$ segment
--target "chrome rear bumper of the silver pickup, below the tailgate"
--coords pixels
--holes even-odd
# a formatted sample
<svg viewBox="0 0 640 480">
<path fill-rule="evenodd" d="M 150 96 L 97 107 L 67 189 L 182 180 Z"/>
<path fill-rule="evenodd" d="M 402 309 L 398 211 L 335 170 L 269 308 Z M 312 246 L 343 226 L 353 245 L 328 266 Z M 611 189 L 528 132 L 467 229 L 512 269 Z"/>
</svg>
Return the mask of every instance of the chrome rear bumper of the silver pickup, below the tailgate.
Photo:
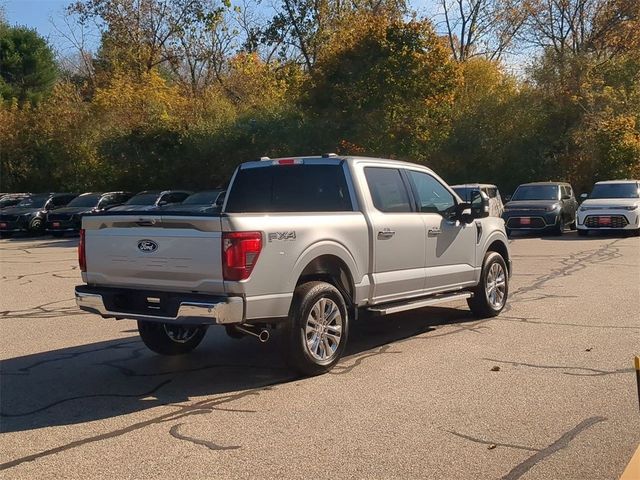
<svg viewBox="0 0 640 480">
<path fill-rule="evenodd" d="M 79 285 L 76 304 L 103 318 L 128 318 L 183 325 L 242 323 L 242 297 L 169 293 Z"/>
</svg>

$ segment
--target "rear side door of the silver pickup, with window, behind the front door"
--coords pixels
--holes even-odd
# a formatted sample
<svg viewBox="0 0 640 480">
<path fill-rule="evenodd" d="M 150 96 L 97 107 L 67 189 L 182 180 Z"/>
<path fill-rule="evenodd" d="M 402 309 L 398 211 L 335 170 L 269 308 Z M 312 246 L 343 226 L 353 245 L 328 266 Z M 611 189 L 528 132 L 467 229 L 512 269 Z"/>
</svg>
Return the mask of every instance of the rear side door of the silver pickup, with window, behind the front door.
<svg viewBox="0 0 640 480">
<path fill-rule="evenodd" d="M 418 296 L 425 287 L 425 227 L 398 168 L 365 167 L 373 208 L 373 300 Z"/>
</svg>

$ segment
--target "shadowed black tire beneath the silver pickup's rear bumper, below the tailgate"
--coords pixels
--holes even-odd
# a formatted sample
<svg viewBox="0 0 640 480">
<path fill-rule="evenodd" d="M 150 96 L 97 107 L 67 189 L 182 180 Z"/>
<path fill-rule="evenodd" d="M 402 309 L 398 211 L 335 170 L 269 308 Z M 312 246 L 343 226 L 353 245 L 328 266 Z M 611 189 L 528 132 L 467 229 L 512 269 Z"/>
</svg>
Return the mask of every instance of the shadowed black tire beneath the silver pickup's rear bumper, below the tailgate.
<svg viewBox="0 0 640 480">
<path fill-rule="evenodd" d="M 200 344 L 207 332 L 207 327 L 138 320 L 138 332 L 149 350 L 160 355 L 182 355 Z M 182 339 L 179 340 L 181 336 Z"/>
</svg>

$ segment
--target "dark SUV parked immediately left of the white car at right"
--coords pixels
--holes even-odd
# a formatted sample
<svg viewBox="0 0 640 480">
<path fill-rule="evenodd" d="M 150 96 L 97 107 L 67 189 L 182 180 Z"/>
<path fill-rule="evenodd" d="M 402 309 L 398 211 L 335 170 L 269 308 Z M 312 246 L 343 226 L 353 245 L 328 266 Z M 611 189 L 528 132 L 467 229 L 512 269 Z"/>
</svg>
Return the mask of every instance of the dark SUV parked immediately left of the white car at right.
<svg viewBox="0 0 640 480">
<path fill-rule="evenodd" d="M 504 206 L 502 218 L 507 235 L 512 231 L 562 235 L 565 227 L 575 230 L 577 208 L 573 188 L 568 183 L 524 183 Z"/>
</svg>

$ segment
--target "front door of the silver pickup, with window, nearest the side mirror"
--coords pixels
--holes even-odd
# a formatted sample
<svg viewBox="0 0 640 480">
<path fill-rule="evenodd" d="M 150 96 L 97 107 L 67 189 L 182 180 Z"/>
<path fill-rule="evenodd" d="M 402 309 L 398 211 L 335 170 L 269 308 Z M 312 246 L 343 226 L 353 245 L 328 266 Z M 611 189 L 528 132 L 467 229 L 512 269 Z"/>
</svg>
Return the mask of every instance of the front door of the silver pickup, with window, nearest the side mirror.
<svg viewBox="0 0 640 480">
<path fill-rule="evenodd" d="M 474 222 L 453 219 L 456 199 L 433 175 L 406 170 L 418 203 L 426 237 L 426 284 L 429 293 L 475 283 L 476 241 Z"/>
</svg>

